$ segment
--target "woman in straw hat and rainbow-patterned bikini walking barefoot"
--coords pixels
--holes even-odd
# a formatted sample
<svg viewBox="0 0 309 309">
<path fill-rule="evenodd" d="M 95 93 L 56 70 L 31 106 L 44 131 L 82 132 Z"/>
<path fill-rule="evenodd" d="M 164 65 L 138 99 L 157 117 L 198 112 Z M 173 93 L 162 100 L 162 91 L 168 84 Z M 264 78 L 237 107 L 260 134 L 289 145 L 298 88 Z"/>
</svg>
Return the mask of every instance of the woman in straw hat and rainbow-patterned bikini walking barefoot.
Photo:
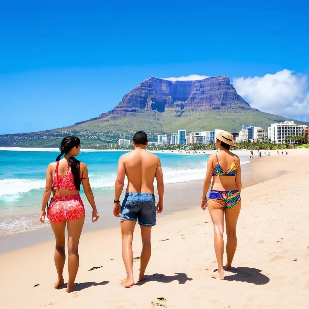
<svg viewBox="0 0 309 309">
<path fill-rule="evenodd" d="M 236 223 L 241 208 L 240 191 L 241 171 L 237 155 L 230 151 L 231 146 L 238 147 L 233 142 L 233 135 L 222 131 L 216 135 L 216 146 L 220 149 L 217 154 L 208 158 L 206 177 L 204 180 L 201 208 L 208 207 L 211 220 L 214 224 L 214 248 L 218 262 L 218 277 L 224 279 L 224 217 L 226 226 L 226 270 L 231 270 L 233 257 L 236 251 Z M 206 193 L 212 186 L 207 201 Z"/>
</svg>

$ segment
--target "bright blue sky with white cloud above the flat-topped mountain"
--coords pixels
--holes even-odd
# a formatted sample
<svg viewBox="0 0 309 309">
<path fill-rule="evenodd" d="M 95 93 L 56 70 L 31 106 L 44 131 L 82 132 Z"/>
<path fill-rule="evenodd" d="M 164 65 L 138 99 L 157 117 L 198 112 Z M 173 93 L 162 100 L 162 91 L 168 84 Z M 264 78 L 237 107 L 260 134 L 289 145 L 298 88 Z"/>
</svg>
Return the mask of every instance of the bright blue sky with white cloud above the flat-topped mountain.
<svg viewBox="0 0 309 309">
<path fill-rule="evenodd" d="M 87 120 L 150 76 L 190 74 L 227 75 L 253 107 L 307 120 L 308 8 L 290 0 L 2 0 L 0 134 Z M 253 95 L 278 74 L 290 96 L 282 110 L 281 88 L 265 100 Z"/>
</svg>

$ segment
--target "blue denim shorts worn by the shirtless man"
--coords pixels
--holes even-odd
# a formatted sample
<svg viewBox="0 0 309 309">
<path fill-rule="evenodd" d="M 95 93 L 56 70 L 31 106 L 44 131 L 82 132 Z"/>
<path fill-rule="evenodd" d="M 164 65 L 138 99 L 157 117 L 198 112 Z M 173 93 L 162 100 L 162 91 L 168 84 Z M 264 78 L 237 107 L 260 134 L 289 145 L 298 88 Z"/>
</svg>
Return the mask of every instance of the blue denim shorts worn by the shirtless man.
<svg viewBox="0 0 309 309">
<path fill-rule="evenodd" d="M 126 193 L 121 205 L 120 221 L 137 221 L 141 226 L 156 225 L 155 195 L 150 193 Z"/>
</svg>

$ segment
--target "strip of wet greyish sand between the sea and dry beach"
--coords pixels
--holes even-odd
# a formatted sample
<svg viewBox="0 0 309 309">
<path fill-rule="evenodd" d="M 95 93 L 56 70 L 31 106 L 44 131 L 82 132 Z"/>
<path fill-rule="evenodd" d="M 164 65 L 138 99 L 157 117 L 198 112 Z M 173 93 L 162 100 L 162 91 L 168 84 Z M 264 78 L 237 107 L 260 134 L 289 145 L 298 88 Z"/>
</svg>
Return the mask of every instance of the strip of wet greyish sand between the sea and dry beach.
<svg viewBox="0 0 309 309">
<path fill-rule="evenodd" d="M 254 173 L 254 167 L 258 163 L 258 161 L 259 159 L 256 156 L 256 158 L 252 159 L 250 163 L 245 164 L 246 170 L 245 172 L 242 171 L 243 188 L 267 181 L 269 179 L 276 178 L 281 175 L 279 175 L 277 172 L 273 172 L 262 177 L 258 176 Z M 204 179 L 198 179 L 179 183 L 165 184 L 164 211 L 157 217 L 162 218 L 193 209 L 195 205 L 187 205 L 187 203 L 183 201 L 183 194 L 185 193 L 188 195 L 190 193 L 190 195 L 192 196 L 201 195 L 203 181 Z M 124 194 L 124 192 L 121 194 L 121 198 L 124 197 Z M 207 194 L 209 194 L 209 192 Z M 155 192 L 155 197 L 156 200 L 158 200 L 157 192 Z M 88 222 L 89 220 L 87 219 L 89 219 L 91 213 L 90 205 L 88 205 L 88 201 L 84 195 L 82 195 L 82 198 L 86 210 L 83 234 L 96 231 L 104 231 L 115 228 L 119 225 L 119 219 L 113 217 L 111 212 L 110 214 L 100 214 L 99 221 L 94 224 L 92 222 Z M 95 199 L 97 205 L 106 205 L 109 200 L 112 200 L 112 196 L 109 197 L 108 195 L 97 195 L 95 196 Z M 175 207 L 175 205 L 177 206 Z M 112 204 L 110 207 L 112 207 Z M 100 211 L 100 213 L 102 213 L 102 210 Z M 50 224 L 48 221 L 45 224 L 46 226 L 42 226 L 29 231 L 1 235 L 0 254 L 20 250 L 29 246 L 37 245 L 39 243 L 53 241 L 54 235 L 51 231 Z"/>
</svg>

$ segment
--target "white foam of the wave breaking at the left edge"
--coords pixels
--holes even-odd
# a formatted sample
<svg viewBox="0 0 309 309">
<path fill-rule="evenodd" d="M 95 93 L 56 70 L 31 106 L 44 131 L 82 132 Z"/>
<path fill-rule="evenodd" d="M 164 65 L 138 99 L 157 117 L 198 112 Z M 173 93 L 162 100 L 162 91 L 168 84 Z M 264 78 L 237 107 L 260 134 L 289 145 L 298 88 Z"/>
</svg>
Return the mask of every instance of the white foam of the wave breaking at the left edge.
<svg viewBox="0 0 309 309">
<path fill-rule="evenodd" d="M 5 195 L 6 198 L 9 196 L 17 196 L 19 193 L 29 192 L 32 189 L 44 188 L 45 180 L 34 180 L 34 179 L 1 179 L 0 180 L 0 198 Z M 13 197 L 12 197 L 13 198 Z"/>
</svg>

